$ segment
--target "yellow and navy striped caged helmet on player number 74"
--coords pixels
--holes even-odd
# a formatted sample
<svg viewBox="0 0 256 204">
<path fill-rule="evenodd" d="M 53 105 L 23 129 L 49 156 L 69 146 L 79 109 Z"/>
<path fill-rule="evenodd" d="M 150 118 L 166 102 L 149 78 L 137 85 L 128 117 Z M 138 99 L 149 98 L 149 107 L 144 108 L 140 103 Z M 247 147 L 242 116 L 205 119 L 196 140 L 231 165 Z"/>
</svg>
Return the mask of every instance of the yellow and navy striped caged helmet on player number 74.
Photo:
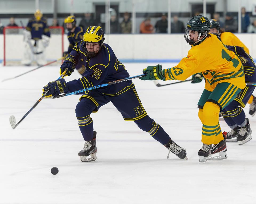
<svg viewBox="0 0 256 204">
<path fill-rule="evenodd" d="M 86 57 L 95 57 L 102 49 L 104 33 L 100 26 L 90 26 L 83 34 L 83 50 Z"/>
</svg>

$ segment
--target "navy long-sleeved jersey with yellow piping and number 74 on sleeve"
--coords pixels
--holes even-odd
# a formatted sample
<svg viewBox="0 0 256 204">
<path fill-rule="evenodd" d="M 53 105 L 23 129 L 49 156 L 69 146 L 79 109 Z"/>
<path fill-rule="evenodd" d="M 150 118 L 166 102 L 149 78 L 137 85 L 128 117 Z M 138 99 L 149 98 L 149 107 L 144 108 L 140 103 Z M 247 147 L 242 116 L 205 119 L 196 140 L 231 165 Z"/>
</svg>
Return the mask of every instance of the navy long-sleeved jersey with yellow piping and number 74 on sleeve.
<svg viewBox="0 0 256 204">
<path fill-rule="evenodd" d="M 82 41 L 77 42 L 65 60 L 73 61 L 77 65 L 80 59 L 83 60 L 87 73 L 78 80 L 67 82 L 69 92 L 129 77 L 125 66 L 118 61 L 115 53 L 108 44 L 103 44 L 98 55 L 87 58 L 82 47 Z M 135 85 L 129 80 L 97 90 L 107 96 L 116 96 L 134 87 Z"/>
</svg>

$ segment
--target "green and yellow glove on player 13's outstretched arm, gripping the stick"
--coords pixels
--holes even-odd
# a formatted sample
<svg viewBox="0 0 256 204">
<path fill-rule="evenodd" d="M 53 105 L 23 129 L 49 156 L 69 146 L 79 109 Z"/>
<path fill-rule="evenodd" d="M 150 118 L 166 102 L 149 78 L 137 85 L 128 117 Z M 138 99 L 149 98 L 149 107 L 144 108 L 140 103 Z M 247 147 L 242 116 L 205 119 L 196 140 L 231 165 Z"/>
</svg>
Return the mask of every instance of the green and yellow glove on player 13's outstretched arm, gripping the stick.
<svg viewBox="0 0 256 204">
<path fill-rule="evenodd" d="M 148 66 L 143 69 L 143 73 L 147 74 L 145 77 L 140 77 L 141 80 L 158 80 L 161 79 L 165 81 L 165 75 L 162 73 L 162 65 L 158 64 L 156 66 Z"/>
</svg>

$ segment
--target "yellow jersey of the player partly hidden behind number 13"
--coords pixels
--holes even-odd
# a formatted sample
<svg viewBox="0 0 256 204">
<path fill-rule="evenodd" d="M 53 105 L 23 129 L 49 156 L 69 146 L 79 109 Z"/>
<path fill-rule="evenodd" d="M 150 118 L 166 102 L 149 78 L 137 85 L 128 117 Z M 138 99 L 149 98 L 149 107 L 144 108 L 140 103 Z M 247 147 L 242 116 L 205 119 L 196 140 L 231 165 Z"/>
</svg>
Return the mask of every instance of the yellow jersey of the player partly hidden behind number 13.
<svg viewBox="0 0 256 204">
<path fill-rule="evenodd" d="M 237 38 L 233 33 L 231 32 L 222 32 L 221 35 L 221 41 L 224 45 L 230 45 L 230 46 L 239 46 L 242 47 L 245 52 L 249 53 L 249 49 L 245 46 L 245 44 L 242 43 L 241 40 Z"/>
</svg>

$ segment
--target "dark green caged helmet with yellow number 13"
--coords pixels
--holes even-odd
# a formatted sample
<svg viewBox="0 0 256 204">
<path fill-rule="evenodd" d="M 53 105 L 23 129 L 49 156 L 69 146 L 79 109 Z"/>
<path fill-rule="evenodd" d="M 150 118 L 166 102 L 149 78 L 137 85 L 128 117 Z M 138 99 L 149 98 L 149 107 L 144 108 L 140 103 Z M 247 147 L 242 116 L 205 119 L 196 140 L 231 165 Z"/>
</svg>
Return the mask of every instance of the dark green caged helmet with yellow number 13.
<svg viewBox="0 0 256 204">
<path fill-rule="evenodd" d="M 205 39 L 209 31 L 209 19 L 202 15 L 194 16 L 187 22 L 184 38 L 187 44 L 195 45 Z"/>
</svg>

